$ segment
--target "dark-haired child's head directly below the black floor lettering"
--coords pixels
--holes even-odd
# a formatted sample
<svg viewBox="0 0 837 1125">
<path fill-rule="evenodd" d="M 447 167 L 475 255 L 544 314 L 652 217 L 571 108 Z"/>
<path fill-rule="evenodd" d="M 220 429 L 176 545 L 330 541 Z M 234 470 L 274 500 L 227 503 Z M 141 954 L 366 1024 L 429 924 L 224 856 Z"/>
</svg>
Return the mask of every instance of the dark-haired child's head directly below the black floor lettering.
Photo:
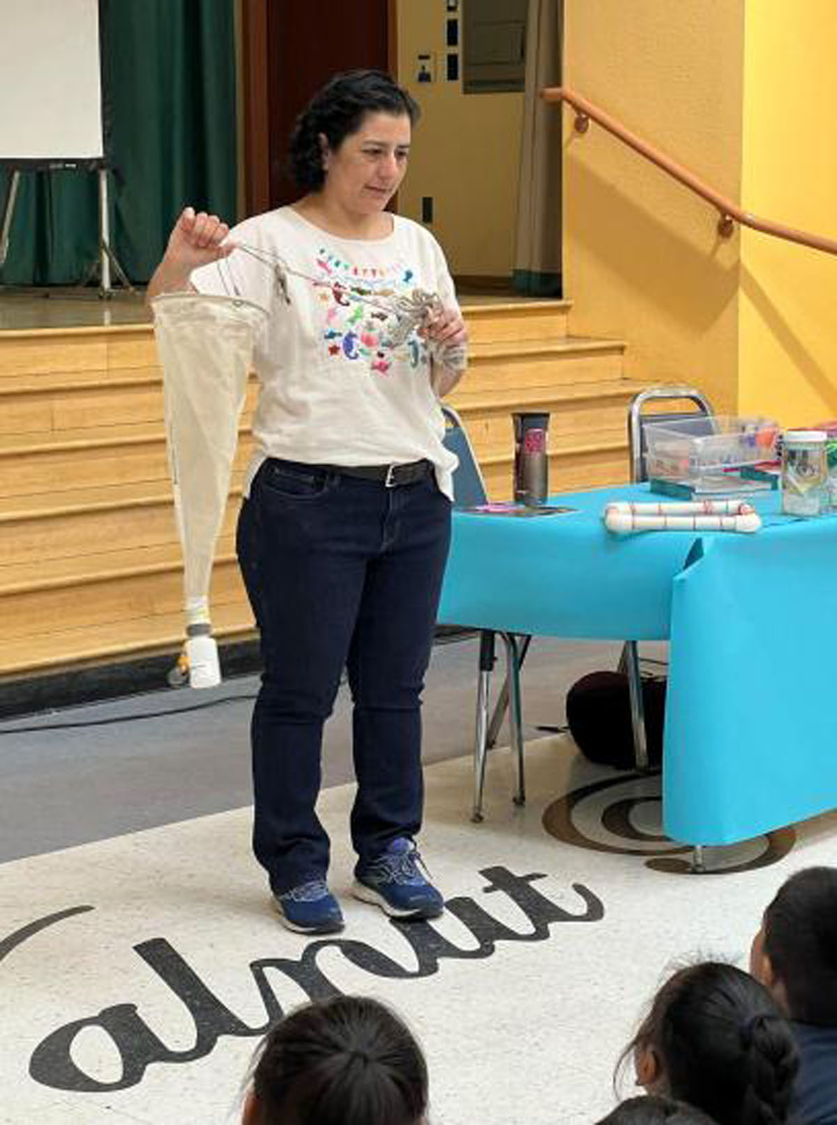
<svg viewBox="0 0 837 1125">
<path fill-rule="evenodd" d="M 244 1125 L 421 1125 L 428 1106 L 422 1050 L 376 1000 L 306 1005 L 259 1048 Z"/>
</svg>

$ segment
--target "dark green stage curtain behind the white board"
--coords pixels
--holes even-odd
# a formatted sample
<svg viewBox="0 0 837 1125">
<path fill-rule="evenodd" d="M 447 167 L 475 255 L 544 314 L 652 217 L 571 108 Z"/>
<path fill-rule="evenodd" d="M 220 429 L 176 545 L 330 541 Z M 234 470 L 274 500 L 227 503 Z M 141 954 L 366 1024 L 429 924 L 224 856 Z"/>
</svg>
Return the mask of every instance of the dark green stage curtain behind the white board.
<svg viewBox="0 0 837 1125">
<path fill-rule="evenodd" d="M 234 0 L 106 0 L 111 245 L 144 284 L 180 210 L 235 218 Z M 0 200 L 9 173 L 0 173 Z M 97 256 L 93 172 L 25 172 L 4 285 L 73 285 Z"/>
</svg>

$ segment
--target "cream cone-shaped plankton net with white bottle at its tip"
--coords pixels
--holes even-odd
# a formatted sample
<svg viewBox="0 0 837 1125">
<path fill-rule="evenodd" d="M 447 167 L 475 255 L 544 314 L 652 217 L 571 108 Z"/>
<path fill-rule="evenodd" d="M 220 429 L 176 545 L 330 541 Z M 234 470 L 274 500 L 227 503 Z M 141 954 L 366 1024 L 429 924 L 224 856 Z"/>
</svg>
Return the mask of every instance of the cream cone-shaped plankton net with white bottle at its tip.
<svg viewBox="0 0 837 1125">
<path fill-rule="evenodd" d="M 242 298 L 164 294 L 152 302 L 165 432 L 183 551 L 186 662 L 194 687 L 219 682 L 209 580 L 238 440 L 238 418 L 267 312 Z M 184 670 L 181 665 L 181 670 Z"/>
</svg>

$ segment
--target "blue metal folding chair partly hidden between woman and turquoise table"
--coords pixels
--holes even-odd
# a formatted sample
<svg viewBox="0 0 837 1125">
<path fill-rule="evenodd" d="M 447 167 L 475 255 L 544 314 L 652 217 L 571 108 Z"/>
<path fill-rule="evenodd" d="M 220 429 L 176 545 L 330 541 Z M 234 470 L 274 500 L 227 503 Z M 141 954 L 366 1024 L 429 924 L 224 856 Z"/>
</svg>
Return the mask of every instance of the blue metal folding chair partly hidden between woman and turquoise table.
<svg viewBox="0 0 837 1125">
<path fill-rule="evenodd" d="M 442 405 L 442 413 L 446 424 L 444 444 L 459 458 L 459 466 L 453 474 L 454 507 L 474 507 L 478 504 L 485 504 L 488 498 L 485 482 L 462 420 L 451 406 Z M 512 748 L 518 762 L 518 786 L 513 800 L 515 804 L 525 804 L 520 669 L 531 638 L 520 638 L 515 633 L 500 631 L 506 654 L 506 678 L 497 701 L 494 719 L 489 723 L 490 677 L 496 663 L 495 637 L 496 632 L 493 629 L 482 629 L 479 632 L 477 719 L 474 738 L 474 811 L 471 813 L 471 820 L 477 824 L 483 820 L 486 757 L 488 749 L 494 746 L 506 706 L 508 708 Z M 500 716 L 498 719 L 497 716 Z"/>
</svg>

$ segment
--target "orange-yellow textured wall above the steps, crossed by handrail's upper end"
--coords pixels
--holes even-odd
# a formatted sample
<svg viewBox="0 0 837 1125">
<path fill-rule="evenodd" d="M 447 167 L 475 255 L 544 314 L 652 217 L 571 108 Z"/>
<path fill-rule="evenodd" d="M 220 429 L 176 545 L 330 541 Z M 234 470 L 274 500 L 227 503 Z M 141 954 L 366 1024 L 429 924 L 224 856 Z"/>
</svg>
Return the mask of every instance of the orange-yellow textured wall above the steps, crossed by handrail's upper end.
<svg viewBox="0 0 837 1125">
<path fill-rule="evenodd" d="M 734 200 L 742 60 L 744 0 L 565 0 L 566 83 Z M 624 339 L 630 378 L 735 410 L 739 235 L 720 240 L 706 204 L 561 111 L 573 332 Z"/>
</svg>

